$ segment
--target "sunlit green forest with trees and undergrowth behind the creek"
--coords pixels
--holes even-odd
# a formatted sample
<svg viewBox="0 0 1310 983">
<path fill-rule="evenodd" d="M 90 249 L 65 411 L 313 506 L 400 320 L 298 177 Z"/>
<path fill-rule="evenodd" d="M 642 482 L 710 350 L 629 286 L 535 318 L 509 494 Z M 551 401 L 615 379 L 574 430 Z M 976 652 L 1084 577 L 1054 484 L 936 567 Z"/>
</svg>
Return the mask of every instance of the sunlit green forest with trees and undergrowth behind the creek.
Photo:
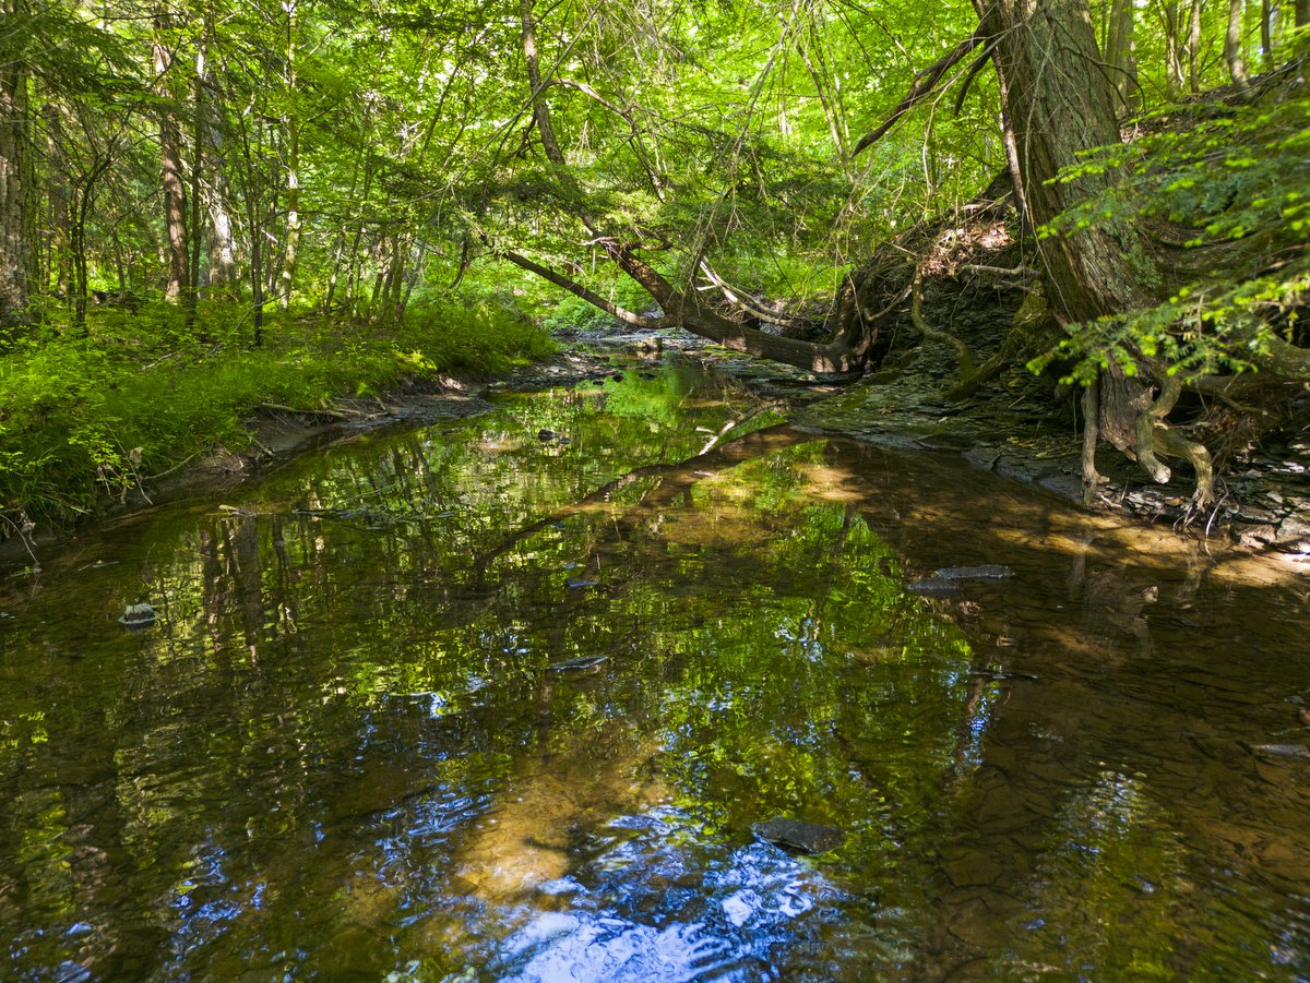
<svg viewBox="0 0 1310 983">
<path fill-rule="evenodd" d="M 240 446 L 259 404 L 504 370 L 558 327 L 858 373 L 908 314 L 956 395 L 1051 370 L 1091 450 L 1186 458 L 1197 507 L 1305 410 L 1310 0 L 0 10 L 9 533 Z M 947 247 L 984 225 L 1011 264 Z M 925 319 L 929 277 L 1023 298 L 990 357 Z"/>
</svg>

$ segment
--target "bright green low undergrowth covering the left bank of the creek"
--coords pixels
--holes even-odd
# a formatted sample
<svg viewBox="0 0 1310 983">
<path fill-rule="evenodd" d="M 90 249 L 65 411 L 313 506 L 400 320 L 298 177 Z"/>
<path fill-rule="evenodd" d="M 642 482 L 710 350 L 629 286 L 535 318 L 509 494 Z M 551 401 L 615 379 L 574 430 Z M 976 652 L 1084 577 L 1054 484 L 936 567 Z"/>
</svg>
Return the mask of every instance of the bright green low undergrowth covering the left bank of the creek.
<svg viewBox="0 0 1310 983">
<path fill-rule="evenodd" d="M 0 347 L 0 538 L 67 525 L 217 445 L 241 450 L 261 404 L 325 408 L 444 374 L 486 376 L 554 351 L 490 304 L 430 304 L 401 326 L 288 318 L 249 347 L 234 308 L 94 312 Z"/>
</svg>

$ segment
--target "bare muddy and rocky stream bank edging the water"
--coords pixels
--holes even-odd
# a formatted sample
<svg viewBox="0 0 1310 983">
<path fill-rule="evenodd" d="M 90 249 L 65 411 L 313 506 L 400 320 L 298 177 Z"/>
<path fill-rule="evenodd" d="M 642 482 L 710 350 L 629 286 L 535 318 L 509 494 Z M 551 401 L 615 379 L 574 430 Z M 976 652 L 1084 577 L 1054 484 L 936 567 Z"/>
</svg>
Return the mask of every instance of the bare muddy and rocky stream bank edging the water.
<svg viewBox="0 0 1310 983">
<path fill-rule="evenodd" d="M 1000 313 L 1005 315 L 1005 310 Z M 973 318 L 985 329 L 985 312 Z M 859 380 L 820 377 L 777 363 L 727 353 L 692 334 L 578 332 L 557 356 L 490 381 L 415 380 L 371 399 L 339 399 L 321 412 L 261 407 L 248 420 L 244 450 L 215 445 L 202 459 L 132 491 L 103 500 L 92 521 L 114 522 L 166 501 L 232 488 L 312 450 L 363 435 L 421 427 L 487 412 L 496 391 L 531 391 L 601 380 L 620 365 L 656 365 L 665 356 L 696 359 L 740 382 L 756 398 L 786 407 L 798 429 L 845 436 L 883 448 L 959 454 L 982 471 L 1082 501 L 1079 421 L 1072 403 L 1052 411 L 1051 382 L 1011 369 L 977 395 L 948 402 L 955 365 L 939 347 L 892 353 Z M 1163 525 L 1180 535 L 1234 543 L 1271 559 L 1310 568 L 1310 432 L 1285 431 L 1221 476 L 1222 497 L 1205 516 L 1189 512 L 1191 476 L 1175 470 L 1169 484 L 1146 484 L 1136 466 L 1103 448 L 1110 483 L 1096 510 Z M 39 564 L 43 548 L 77 531 L 43 530 L 0 541 L 0 563 Z"/>
</svg>

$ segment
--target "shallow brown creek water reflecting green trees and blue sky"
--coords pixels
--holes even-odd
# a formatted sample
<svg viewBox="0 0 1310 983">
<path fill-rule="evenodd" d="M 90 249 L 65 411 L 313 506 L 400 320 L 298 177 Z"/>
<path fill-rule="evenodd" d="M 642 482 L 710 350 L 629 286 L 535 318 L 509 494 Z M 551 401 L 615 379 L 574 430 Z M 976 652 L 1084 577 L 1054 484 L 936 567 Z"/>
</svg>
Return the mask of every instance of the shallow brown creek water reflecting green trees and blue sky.
<svg viewBox="0 0 1310 983">
<path fill-rule="evenodd" d="M 0 580 L 0 976 L 1310 976 L 1303 576 L 621 376 Z"/>
</svg>

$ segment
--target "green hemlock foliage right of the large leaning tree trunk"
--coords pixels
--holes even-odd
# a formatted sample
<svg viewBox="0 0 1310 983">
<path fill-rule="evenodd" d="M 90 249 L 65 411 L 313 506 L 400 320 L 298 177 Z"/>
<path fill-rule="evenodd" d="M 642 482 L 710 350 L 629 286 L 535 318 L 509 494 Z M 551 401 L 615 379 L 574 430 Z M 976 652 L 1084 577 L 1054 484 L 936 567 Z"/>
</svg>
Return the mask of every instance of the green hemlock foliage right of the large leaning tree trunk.
<svg viewBox="0 0 1310 983">
<path fill-rule="evenodd" d="M 1188 377 L 1243 372 L 1275 338 L 1293 340 L 1310 297 L 1310 94 L 1279 93 L 1250 105 L 1170 106 L 1132 144 L 1102 148 L 1061 181 L 1117 171 L 1103 195 L 1058 216 L 1041 234 L 1073 234 L 1112 221 L 1180 237 L 1197 262 L 1153 306 L 1077 325 L 1056 355 L 1087 381 L 1117 361 L 1159 359 Z"/>
</svg>

